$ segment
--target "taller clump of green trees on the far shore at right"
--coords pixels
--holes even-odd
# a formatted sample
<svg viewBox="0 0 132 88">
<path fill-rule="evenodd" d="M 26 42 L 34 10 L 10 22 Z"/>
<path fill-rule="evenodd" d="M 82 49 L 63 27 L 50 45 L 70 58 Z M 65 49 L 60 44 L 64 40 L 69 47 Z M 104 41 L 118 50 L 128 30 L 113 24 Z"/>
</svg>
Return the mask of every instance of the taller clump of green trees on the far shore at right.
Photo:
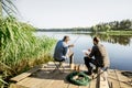
<svg viewBox="0 0 132 88">
<path fill-rule="evenodd" d="M 91 26 L 92 32 L 109 32 L 109 31 L 132 31 L 132 21 L 122 20 L 108 23 L 100 23 Z"/>
</svg>

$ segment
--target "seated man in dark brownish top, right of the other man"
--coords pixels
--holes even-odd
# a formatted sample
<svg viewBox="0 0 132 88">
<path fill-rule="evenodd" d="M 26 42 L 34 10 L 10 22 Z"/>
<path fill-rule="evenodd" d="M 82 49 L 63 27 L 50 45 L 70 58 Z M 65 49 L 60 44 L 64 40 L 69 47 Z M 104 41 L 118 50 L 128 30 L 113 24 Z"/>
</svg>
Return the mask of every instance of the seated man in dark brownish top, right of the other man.
<svg viewBox="0 0 132 88">
<path fill-rule="evenodd" d="M 88 68 L 87 74 L 91 75 L 92 74 L 92 67 L 90 66 L 90 63 L 96 65 L 96 70 L 95 73 L 97 73 L 98 67 L 109 67 L 110 63 L 109 63 L 109 56 L 108 53 L 105 48 L 105 46 L 102 44 L 99 44 L 99 38 L 98 37 L 94 37 L 94 46 L 90 51 L 90 54 L 86 53 L 86 57 L 85 59 L 85 65 Z M 95 58 L 92 58 L 92 56 L 95 56 Z"/>
</svg>

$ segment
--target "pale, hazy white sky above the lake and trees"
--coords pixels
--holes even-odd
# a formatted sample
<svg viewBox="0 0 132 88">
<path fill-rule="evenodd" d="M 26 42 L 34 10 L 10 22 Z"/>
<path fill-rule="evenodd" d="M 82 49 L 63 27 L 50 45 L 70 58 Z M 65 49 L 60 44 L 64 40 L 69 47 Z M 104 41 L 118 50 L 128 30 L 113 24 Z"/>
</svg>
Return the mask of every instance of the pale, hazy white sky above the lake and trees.
<svg viewBox="0 0 132 88">
<path fill-rule="evenodd" d="M 38 29 L 88 28 L 132 19 L 132 0 L 14 0 L 19 19 Z"/>
</svg>

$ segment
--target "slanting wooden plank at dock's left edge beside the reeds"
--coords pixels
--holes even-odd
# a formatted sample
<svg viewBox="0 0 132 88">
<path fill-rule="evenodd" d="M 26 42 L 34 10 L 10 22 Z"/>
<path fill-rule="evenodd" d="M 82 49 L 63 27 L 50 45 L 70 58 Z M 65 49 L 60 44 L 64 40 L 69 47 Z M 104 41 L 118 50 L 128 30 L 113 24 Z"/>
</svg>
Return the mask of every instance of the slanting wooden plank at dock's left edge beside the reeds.
<svg viewBox="0 0 132 88">
<path fill-rule="evenodd" d="M 15 76 L 15 77 L 11 78 L 10 80 L 20 81 L 20 80 L 24 79 L 25 77 L 32 75 L 33 73 L 37 72 L 38 69 L 40 69 L 40 66 L 35 66 L 32 69 L 30 69 L 29 72 L 23 73 L 23 74 L 21 74 L 19 76 Z"/>
</svg>

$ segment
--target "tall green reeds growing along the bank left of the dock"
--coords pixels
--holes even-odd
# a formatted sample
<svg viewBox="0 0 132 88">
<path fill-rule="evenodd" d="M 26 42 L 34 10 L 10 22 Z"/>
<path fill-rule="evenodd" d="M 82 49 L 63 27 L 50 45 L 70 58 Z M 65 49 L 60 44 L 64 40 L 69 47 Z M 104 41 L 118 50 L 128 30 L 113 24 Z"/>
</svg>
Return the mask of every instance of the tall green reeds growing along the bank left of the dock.
<svg viewBox="0 0 132 88">
<path fill-rule="evenodd" d="M 47 36 L 36 37 L 34 30 L 13 16 L 0 18 L 1 88 L 9 85 L 10 77 L 52 59 L 50 52 L 56 41 Z"/>
</svg>

